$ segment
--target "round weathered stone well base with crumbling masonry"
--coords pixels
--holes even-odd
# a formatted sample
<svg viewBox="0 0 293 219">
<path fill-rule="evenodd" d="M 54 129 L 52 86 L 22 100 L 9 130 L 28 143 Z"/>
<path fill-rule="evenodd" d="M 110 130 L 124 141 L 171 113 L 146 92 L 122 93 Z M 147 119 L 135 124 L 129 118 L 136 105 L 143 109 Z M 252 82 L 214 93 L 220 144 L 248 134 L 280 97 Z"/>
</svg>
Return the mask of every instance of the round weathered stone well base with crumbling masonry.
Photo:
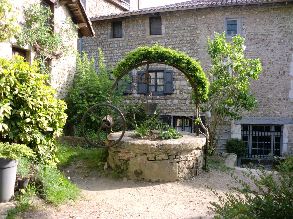
<svg viewBox="0 0 293 219">
<path fill-rule="evenodd" d="M 117 145 L 108 148 L 107 162 L 112 169 L 127 171 L 132 179 L 151 182 L 190 179 L 202 169 L 205 137 L 180 133 L 183 137 L 179 139 L 150 141 L 131 138 L 133 131 L 126 131 Z M 108 138 L 114 140 L 120 135 L 121 132 L 111 133 Z"/>
</svg>

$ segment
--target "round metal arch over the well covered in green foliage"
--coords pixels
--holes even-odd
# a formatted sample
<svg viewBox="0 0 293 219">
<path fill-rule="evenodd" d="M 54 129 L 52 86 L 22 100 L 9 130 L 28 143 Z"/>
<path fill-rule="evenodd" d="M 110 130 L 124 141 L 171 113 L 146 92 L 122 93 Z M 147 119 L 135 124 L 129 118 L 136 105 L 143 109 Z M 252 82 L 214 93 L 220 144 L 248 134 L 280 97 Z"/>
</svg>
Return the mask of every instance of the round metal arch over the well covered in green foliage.
<svg viewBox="0 0 293 219">
<path fill-rule="evenodd" d="M 138 47 L 118 62 L 117 67 L 113 69 L 113 75 L 117 80 L 110 93 L 115 89 L 118 81 L 128 72 L 147 63 L 165 64 L 178 69 L 187 77 L 188 82 L 193 87 L 195 104 L 198 105 L 199 102 L 204 102 L 207 99 L 209 82 L 199 63 L 183 52 L 178 52 L 170 47 L 164 48 L 159 46 L 158 43 L 152 47 Z"/>
</svg>

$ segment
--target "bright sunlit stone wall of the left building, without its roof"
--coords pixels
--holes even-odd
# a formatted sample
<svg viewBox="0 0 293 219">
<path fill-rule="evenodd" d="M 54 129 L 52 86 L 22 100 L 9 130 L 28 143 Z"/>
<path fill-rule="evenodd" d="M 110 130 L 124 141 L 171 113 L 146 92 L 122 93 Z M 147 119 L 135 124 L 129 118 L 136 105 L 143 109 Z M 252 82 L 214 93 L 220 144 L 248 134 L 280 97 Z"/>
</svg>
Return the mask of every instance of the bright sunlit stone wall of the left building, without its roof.
<svg viewBox="0 0 293 219">
<path fill-rule="evenodd" d="M 35 0 L 30 0 L 28 3 L 37 2 Z M 18 23 L 24 22 L 22 5 L 23 1 L 14 0 L 14 11 L 19 16 L 17 17 Z M 58 31 L 59 25 L 65 20 L 65 18 L 70 17 L 71 14 L 66 6 L 60 6 L 57 4 L 54 12 L 54 28 Z M 16 23 L 17 25 L 17 23 Z M 76 32 L 77 33 L 77 32 Z M 18 46 L 15 39 L 10 39 L 7 43 L 0 44 L 1 57 L 12 58 L 12 46 Z M 74 50 L 77 49 L 77 38 L 72 45 Z M 34 54 L 30 52 L 30 48 L 26 46 L 24 49 L 28 50 L 29 60 L 32 62 Z M 57 90 L 57 98 L 64 99 L 68 93 L 66 87 L 70 87 L 72 84 L 73 74 L 75 71 L 76 55 L 70 54 L 68 56 L 62 57 L 59 60 L 51 61 L 51 86 Z"/>
</svg>

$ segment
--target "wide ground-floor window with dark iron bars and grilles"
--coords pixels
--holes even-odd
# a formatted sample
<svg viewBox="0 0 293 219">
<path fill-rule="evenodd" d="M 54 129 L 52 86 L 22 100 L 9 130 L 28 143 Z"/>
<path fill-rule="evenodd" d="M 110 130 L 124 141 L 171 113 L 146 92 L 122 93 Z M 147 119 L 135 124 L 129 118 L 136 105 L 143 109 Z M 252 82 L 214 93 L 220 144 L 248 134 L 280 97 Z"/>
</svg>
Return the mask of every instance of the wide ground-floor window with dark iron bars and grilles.
<svg viewBox="0 0 293 219">
<path fill-rule="evenodd" d="M 280 156 L 282 152 L 283 126 L 241 125 L 241 137 L 248 146 L 246 157 Z"/>
</svg>

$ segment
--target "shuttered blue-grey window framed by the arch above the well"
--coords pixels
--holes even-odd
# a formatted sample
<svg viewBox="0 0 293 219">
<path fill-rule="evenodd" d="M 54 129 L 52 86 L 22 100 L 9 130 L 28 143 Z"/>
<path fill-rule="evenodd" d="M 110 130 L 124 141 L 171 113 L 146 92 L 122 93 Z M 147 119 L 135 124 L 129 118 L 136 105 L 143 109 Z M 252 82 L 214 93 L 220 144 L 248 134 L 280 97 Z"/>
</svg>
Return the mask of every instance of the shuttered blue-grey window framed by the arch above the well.
<svg viewBox="0 0 293 219">
<path fill-rule="evenodd" d="M 153 96 L 165 96 L 173 93 L 173 70 L 166 69 L 149 69 L 151 82 L 142 83 L 140 77 L 144 79 L 146 70 L 137 72 L 137 93 L 149 95 L 150 91 Z M 149 81 L 149 79 L 148 79 Z"/>
</svg>

